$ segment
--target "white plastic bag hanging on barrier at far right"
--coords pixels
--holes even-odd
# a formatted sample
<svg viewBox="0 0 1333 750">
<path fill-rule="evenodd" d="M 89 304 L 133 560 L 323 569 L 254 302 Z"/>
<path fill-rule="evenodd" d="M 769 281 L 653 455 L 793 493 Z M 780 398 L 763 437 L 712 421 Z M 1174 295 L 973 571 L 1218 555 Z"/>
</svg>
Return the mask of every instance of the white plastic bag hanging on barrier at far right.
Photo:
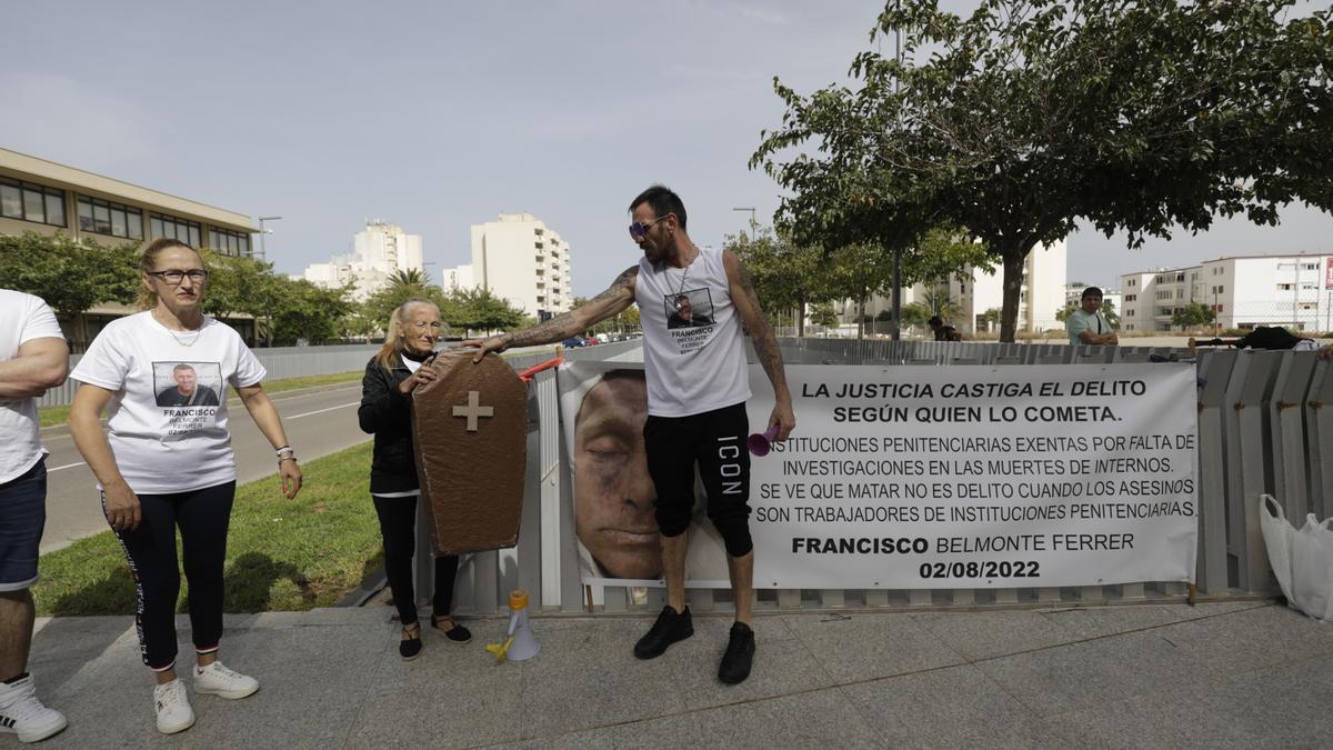
<svg viewBox="0 0 1333 750">
<path fill-rule="evenodd" d="M 1320 621 L 1333 621 L 1333 518 L 1309 514 L 1297 530 L 1273 495 L 1260 496 L 1260 530 L 1268 562 L 1286 602 Z"/>
</svg>

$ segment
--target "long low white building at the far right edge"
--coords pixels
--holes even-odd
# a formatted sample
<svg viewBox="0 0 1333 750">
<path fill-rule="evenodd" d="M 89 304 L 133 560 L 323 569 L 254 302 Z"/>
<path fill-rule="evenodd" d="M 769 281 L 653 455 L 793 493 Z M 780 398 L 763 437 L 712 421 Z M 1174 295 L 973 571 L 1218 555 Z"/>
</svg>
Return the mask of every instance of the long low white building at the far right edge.
<svg viewBox="0 0 1333 750">
<path fill-rule="evenodd" d="M 1212 307 L 1218 328 L 1333 330 L 1333 255 L 1242 255 L 1121 276 L 1124 331 L 1168 331 L 1190 303 Z"/>
</svg>

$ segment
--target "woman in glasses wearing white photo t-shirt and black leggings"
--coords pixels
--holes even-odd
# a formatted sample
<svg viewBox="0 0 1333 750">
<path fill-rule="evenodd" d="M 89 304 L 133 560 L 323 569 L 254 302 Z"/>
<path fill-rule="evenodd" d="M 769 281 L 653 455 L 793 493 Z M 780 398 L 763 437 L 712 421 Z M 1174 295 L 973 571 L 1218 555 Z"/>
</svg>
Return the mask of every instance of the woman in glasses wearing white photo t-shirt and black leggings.
<svg viewBox="0 0 1333 750">
<path fill-rule="evenodd" d="M 69 431 L 97 478 L 103 512 L 129 562 L 139 649 L 157 679 L 157 729 L 172 734 L 195 723 L 176 675 L 177 528 L 189 587 L 195 693 L 235 699 L 259 690 L 255 678 L 217 661 L 223 562 L 236 495 L 227 399 L 217 398 L 227 384 L 273 446 L 288 498 L 301 488 L 301 470 L 260 384 L 264 366 L 236 331 L 203 314 L 208 270 L 199 252 L 159 239 L 144 250 L 140 271 L 144 311 L 111 322 L 71 374 L 81 386 L 69 408 Z"/>
</svg>

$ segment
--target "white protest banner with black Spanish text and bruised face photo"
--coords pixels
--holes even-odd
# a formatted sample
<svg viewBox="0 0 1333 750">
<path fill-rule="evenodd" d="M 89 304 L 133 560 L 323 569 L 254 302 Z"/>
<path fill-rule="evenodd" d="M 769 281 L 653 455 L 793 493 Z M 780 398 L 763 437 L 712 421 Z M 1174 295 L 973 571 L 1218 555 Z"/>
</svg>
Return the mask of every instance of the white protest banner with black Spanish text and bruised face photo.
<svg viewBox="0 0 1333 750">
<path fill-rule="evenodd" d="M 584 583 L 660 582 L 641 372 L 641 363 L 580 362 L 559 375 L 575 500 L 567 532 Z M 752 462 L 756 587 L 1193 581 L 1189 364 L 789 366 L 786 378 L 796 432 Z M 750 387 L 761 432 L 772 390 L 757 366 Z M 702 507 L 701 498 L 688 585 L 725 587 Z"/>
</svg>

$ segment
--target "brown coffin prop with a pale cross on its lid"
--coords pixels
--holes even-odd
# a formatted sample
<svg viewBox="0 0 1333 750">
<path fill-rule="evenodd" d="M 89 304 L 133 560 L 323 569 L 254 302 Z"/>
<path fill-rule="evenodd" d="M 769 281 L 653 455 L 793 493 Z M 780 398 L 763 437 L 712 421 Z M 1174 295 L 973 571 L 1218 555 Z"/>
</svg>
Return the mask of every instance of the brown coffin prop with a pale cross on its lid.
<svg viewBox="0 0 1333 750">
<path fill-rule="evenodd" d="M 441 352 L 440 378 L 412 392 L 421 499 L 436 551 L 477 552 L 519 540 L 528 452 L 528 387 L 499 355 Z"/>
</svg>

